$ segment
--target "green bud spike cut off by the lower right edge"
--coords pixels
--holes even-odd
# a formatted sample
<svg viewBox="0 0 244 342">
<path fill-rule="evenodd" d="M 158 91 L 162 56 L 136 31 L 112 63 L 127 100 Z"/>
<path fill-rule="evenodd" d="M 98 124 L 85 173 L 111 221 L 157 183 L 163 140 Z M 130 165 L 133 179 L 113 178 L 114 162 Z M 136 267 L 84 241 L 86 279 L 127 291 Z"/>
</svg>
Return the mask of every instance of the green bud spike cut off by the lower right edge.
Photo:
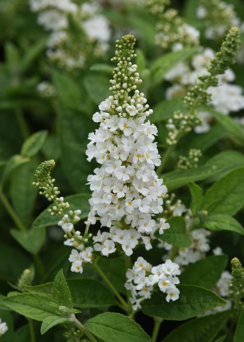
<svg viewBox="0 0 244 342">
<path fill-rule="evenodd" d="M 244 308 L 244 268 L 238 258 L 231 260 L 232 280 L 229 283 L 229 297 L 233 300 L 234 308 Z"/>
</svg>

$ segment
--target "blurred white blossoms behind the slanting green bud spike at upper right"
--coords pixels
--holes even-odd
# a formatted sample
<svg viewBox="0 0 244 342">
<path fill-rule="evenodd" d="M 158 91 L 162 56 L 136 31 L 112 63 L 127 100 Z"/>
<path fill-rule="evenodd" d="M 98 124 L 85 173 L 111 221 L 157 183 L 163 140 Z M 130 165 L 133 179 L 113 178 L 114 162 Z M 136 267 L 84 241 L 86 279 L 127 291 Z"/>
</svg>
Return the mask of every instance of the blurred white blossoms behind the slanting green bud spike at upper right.
<svg viewBox="0 0 244 342">
<path fill-rule="evenodd" d="M 210 48 L 205 48 L 201 53 L 194 55 L 189 62 L 180 62 L 172 68 L 165 76 L 165 79 L 172 83 L 172 86 L 166 90 L 166 98 L 170 99 L 185 94 L 190 87 L 196 84 L 200 75 L 208 75 L 207 68 L 214 57 L 214 51 Z M 216 111 L 223 114 L 238 112 L 243 109 L 243 89 L 230 83 L 235 80 L 235 74 L 232 69 L 228 68 L 224 74 L 218 75 L 217 79 L 218 86 L 211 86 L 207 89 L 207 93 L 211 95 L 209 104 Z M 194 128 L 195 132 L 208 132 L 211 114 L 200 111 L 198 115 L 202 119 L 202 123 Z"/>
</svg>

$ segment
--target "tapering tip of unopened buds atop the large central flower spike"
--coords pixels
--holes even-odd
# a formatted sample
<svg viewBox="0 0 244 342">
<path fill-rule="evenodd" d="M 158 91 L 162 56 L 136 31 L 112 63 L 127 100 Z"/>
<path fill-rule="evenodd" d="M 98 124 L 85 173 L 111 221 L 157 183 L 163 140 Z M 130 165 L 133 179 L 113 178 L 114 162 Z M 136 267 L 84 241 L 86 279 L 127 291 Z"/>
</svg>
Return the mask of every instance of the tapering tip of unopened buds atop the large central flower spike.
<svg viewBox="0 0 244 342">
<path fill-rule="evenodd" d="M 115 94 L 115 100 L 126 100 L 128 93 L 137 89 L 137 85 L 142 83 L 139 78 L 137 66 L 130 62 L 136 57 L 134 46 L 136 39 L 133 34 L 127 34 L 121 40 L 116 41 L 115 57 L 111 58 L 112 62 L 117 62 L 117 67 L 113 70 L 113 79 L 110 80 L 112 86 L 109 88 Z M 122 102 L 121 102 L 122 104 Z"/>
</svg>

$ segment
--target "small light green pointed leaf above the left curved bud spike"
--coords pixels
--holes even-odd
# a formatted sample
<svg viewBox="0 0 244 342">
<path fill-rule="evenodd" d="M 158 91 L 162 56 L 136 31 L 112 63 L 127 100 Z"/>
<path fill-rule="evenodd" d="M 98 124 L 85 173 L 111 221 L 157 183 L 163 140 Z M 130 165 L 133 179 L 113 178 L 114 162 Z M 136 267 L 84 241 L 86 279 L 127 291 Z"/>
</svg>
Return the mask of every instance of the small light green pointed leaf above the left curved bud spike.
<svg viewBox="0 0 244 342">
<path fill-rule="evenodd" d="M 41 147 L 47 137 L 47 131 L 39 131 L 28 137 L 21 148 L 21 155 L 24 157 L 32 158 L 34 157 Z"/>
</svg>

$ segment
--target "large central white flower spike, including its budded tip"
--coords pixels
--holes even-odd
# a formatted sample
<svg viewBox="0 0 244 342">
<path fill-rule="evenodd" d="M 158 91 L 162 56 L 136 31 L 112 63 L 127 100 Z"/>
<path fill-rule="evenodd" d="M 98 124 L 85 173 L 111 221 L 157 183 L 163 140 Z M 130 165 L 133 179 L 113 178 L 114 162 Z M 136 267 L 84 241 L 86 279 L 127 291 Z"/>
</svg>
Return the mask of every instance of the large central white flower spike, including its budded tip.
<svg viewBox="0 0 244 342">
<path fill-rule="evenodd" d="M 163 211 L 163 185 L 155 166 L 161 164 L 157 143 L 157 128 L 147 117 L 152 113 L 143 93 L 137 90 L 142 82 L 137 66 L 131 63 L 135 38 L 132 34 L 117 41 L 117 62 L 110 81 L 109 96 L 99 105 L 93 120 L 100 123 L 89 134 L 87 160 L 97 160 L 100 167 L 88 176 L 92 191 L 88 221 L 95 224 L 97 216 L 108 231 L 93 237 L 94 249 L 108 255 L 121 247 L 126 255 L 142 243 L 151 249 L 151 239 L 162 222 L 154 219 Z"/>
</svg>

